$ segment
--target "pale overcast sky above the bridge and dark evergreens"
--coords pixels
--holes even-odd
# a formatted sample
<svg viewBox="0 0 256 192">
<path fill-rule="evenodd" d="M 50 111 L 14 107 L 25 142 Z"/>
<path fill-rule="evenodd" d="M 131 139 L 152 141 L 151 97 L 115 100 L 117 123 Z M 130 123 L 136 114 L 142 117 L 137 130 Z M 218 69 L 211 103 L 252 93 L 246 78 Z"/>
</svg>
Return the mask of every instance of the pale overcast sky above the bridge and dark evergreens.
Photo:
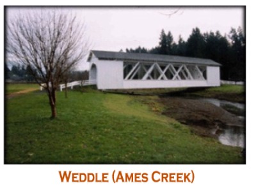
<svg viewBox="0 0 256 192">
<path fill-rule="evenodd" d="M 29 8 L 33 9 L 33 8 Z M 34 8 L 35 9 L 35 8 Z M 179 35 L 188 39 L 193 28 L 201 33 L 220 31 L 228 34 L 231 28 L 244 28 L 243 7 L 72 7 L 61 8 L 76 13 L 86 24 L 84 36 L 91 42 L 90 49 L 120 51 L 136 48 L 147 49 L 159 43 L 161 29 L 171 31 L 174 41 Z M 7 17 L 15 12 L 27 12 L 28 8 L 9 8 Z M 173 13 L 173 14 L 172 14 Z M 171 15 L 170 15 L 171 14 Z M 79 68 L 83 69 L 84 65 Z"/>
</svg>

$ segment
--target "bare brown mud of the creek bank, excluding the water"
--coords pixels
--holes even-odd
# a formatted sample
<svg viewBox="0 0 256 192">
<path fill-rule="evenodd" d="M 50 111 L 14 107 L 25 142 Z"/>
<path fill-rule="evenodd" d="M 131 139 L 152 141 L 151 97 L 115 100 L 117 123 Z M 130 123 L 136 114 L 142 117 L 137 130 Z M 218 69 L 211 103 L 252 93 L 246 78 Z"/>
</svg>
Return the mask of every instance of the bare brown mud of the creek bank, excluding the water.
<svg viewBox="0 0 256 192">
<path fill-rule="evenodd" d="M 202 100 L 162 97 L 161 102 L 166 106 L 163 115 L 189 125 L 191 131 L 200 136 L 215 137 L 215 131 L 221 131 L 227 126 L 244 126 L 241 118 Z"/>
</svg>

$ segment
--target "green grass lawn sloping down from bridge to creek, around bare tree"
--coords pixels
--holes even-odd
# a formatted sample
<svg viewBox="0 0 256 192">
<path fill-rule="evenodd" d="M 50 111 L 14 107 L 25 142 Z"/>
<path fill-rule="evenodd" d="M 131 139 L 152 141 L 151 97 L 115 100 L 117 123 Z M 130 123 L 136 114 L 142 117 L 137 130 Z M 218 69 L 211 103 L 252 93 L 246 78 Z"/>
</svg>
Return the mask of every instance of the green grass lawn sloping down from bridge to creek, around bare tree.
<svg viewBox="0 0 256 192">
<path fill-rule="evenodd" d="M 6 100 L 6 164 L 240 164 L 241 148 L 201 138 L 161 115 L 157 97 L 58 92 L 58 118 L 44 92 Z M 143 102 L 147 100 L 148 102 Z"/>
</svg>

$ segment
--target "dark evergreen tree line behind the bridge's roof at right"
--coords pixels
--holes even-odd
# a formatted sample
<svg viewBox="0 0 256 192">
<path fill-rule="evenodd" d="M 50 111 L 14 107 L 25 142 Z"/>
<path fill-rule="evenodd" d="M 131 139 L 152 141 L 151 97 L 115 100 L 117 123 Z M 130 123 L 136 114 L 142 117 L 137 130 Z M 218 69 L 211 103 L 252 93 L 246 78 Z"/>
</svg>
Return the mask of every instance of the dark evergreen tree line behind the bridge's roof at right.
<svg viewBox="0 0 256 192">
<path fill-rule="evenodd" d="M 194 28 L 187 41 L 179 36 L 176 43 L 171 31 L 162 29 L 159 45 L 152 49 L 137 47 L 126 49 L 126 52 L 141 52 L 152 54 L 166 54 L 207 58 L 221 63 L 221 79 L 229 81 L 245 80 L 245 36 L 243 30 L 231 28 L 228 35 L 221 35 L 220 31 L 201 33 Z"/>
</svg>

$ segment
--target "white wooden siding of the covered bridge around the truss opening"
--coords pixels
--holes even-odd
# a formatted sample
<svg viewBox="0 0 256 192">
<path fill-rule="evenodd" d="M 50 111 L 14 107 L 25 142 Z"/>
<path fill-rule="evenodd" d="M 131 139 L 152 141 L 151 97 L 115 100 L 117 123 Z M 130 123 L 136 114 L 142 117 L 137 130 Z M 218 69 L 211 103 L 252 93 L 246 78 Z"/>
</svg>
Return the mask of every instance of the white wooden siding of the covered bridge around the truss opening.
<svg viewBox="0 0 256 192">
<path fill-rule="evenodd" d="M 136 89 L 136 88 L 179 88 L 179 87 L 204 87 L 220 86 L 220 67 L 207 66 L 205 79 L 124 79 L 124 62 L 116 60 L 98 60 L 94 55 L 90 60 L 97 68 L 97 88 L 100 90 L 110 89 Z M 95 78 L 91 76 L 90 79 Z"/>
</svg>

